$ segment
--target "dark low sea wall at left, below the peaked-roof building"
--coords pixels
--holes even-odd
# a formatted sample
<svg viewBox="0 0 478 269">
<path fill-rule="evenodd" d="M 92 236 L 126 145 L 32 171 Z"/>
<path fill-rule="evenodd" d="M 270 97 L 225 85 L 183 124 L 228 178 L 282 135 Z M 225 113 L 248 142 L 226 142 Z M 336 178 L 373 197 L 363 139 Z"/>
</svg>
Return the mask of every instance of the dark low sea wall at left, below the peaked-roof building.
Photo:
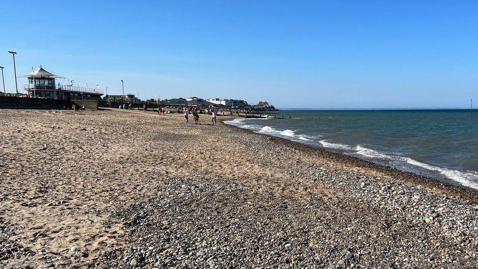
<svg viewBox="0 0 478 269">
<path fill-rule="evenodd" d="M 0 96 L 0 108 L 4 109 L 63 109 L 65 106 L 72 107 L 72 102 L 69 100 Z"/>
</svg>

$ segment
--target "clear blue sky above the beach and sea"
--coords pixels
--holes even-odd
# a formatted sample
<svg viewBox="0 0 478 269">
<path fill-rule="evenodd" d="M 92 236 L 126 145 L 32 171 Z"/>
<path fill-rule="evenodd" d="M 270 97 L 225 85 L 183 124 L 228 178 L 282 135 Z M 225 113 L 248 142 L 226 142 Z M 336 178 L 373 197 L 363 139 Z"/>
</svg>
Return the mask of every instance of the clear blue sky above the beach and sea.
<svg viewBox="0 0 478 269">
<path fill-rule="evenodd" d="M 7 50 L 18 75 L 42 64 L 109 94 L 123 79 L 143 99 L 478 107 L 476 0 L 4 0 L 0 65 L 14 92 Z"/>
</svg>

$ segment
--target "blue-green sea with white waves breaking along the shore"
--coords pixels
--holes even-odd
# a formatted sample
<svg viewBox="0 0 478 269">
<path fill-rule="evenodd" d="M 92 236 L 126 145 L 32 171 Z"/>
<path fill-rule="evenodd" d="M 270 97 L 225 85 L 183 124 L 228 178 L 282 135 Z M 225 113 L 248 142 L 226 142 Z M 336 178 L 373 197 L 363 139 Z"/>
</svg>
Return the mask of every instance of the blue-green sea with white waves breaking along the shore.
<svg viewBox="0 0 478 269">
<path fill-rule="evenodd" d="M 478 190 L 478 111 L 284 110 L 273 116 L 284 119 L 225 123 Z"/>
</svg>

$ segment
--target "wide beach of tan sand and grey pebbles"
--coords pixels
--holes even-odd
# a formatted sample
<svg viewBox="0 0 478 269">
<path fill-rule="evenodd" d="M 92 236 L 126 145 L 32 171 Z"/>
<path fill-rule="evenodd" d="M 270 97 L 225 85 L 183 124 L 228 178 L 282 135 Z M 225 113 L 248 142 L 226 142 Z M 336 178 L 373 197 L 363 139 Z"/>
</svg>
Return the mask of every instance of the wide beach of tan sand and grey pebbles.
<svg viewBox="0 0 478 269">
<path fill-rule="evenodd" d="M 0 110 L 0 265 L 476 267 L 476 193 L 224 119 Z"/>
</svg>

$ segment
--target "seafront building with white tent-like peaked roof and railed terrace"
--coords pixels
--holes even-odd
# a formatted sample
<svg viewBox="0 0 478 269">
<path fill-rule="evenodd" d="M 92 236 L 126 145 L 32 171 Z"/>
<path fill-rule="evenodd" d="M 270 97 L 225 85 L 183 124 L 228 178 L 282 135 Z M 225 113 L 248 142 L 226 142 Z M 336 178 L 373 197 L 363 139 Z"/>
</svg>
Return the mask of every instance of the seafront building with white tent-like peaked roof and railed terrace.
<svg viewBox="0 0 478 269">
<path fill-rule="evenodd" d="M 56 85 L 55 79 L 61 78 L 61 76 L 46 71 L 42 66 L 23 77 L 28 79 L 28 84 L 24 85 L 24 89 L 31 97 L 68 100 L 100 99 L 103 95 L 103 91 L 99 89 Z"/>
</svg>

